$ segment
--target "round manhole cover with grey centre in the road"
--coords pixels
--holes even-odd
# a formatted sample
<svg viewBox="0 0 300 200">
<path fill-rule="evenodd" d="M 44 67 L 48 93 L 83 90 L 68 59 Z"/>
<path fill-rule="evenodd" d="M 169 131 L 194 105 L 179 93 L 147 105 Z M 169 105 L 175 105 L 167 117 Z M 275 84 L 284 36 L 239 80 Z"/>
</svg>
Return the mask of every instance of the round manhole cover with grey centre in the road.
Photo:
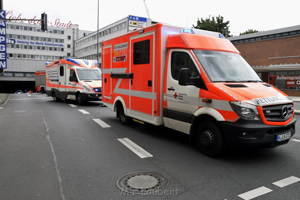
<svg viewBox="0 0 300 200">
<path fill-rule="evenodd" d="M 157 172 L 131 172 L 118 178 L 120 190 L 131 194 L 151 194 L 163 190 L 169 185 L 169 179 Z"/>
</svg>

